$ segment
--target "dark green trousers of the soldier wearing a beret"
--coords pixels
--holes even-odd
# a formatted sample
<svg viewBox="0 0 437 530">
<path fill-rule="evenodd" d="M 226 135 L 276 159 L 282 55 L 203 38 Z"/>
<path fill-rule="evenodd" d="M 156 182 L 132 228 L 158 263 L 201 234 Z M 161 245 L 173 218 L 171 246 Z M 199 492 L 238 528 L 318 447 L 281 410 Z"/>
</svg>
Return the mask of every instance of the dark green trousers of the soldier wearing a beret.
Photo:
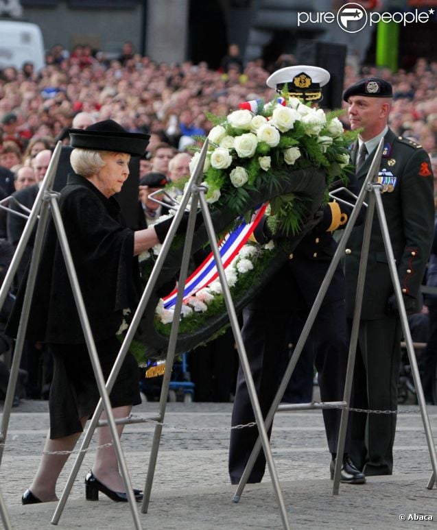
<svg viewBox="0 0 437 530">
<path fill-rule="evenodd" d="M 397 317 L 362 320 L 351 405 L 397 411 L 401 322 Z M 392 474 L 396 414 L 353 412 L 351 456 L 366 475 Z"/>
</svg>

